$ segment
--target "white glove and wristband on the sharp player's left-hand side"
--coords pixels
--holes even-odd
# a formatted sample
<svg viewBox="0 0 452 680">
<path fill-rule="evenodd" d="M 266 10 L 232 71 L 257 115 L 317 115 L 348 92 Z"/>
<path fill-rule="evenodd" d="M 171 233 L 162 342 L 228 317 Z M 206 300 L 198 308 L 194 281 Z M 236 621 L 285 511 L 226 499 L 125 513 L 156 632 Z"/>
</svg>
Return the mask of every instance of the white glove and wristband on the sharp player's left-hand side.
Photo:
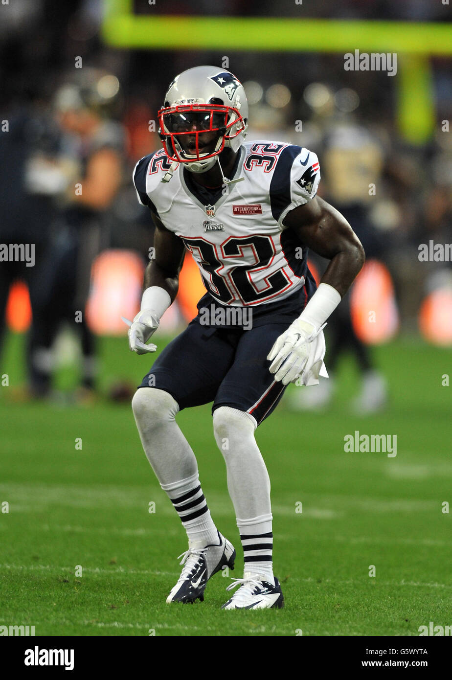
<svg viewBox="0 0 452 680">
<path fill-rule="evenodd" d="M 129 321 L 122 316 L 124 324 L 129 326 L 128 329 L 128 346 L 131 352 L 137 354 L 145 354 L 146 352 L 155 352 L 157 345 L 146 345 L 151 335 L 156 332 L 160 325 L 160 318 L 166 309 L 171 305 L 171 297 L 169 293 L 160 288 L 160 286 L 150 286 L 143 292 L 141 299 L 141 309 L 135 316 L 135 319 Z"/>
</svg>

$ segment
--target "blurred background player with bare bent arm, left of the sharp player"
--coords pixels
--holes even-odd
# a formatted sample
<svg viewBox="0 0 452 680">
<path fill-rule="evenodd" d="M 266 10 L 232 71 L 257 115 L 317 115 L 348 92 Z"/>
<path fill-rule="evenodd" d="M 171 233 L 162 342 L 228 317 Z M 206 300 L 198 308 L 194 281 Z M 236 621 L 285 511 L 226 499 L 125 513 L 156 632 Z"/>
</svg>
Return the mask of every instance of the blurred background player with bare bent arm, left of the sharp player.
<svg viewBox="0 0 452 680">
<path fill-rule="evenodd" d="M 124 130 L 109 118 L 119 83 L 114 75 L 84 69 L 77 82 L 55 97 L 56 119 L 63 133 L 60 164 L 70 178 L 61 201 L 48 250 L 46 295 L 33 320 L 33 389 L 48 394 L 54 357 L 52 343 L 67 320 L 80 333 L 82 376 L 79 398 L 92 397 L 97 375 L 95 338 L 84 318 L 92 260 L 109 244 L 104 221 L 120 189 Z M 80 316 L 80 312 L 82 315 Z"/>
</svg>

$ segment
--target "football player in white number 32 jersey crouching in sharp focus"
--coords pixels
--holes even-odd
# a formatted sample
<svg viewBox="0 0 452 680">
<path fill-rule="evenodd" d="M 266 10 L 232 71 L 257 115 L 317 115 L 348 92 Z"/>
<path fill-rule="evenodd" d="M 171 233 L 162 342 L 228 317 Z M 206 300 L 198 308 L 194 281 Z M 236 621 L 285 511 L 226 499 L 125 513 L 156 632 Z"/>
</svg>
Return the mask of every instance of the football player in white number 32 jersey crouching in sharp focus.
<svg viewBox="0 0 452 680">
<path fill-rule="evenodd" d="M 130 349 L 156 350 L 146 343 L 177 295 L 186 250 L 207 289 L 198 316 L 158 356 L 132 403 L 145 454 L 188 534 L 167 602 L 203 600 L 211 576 L 234 567 L 236 551 L 211 517 L 194 452 L 175 422 L 181 409 L 213 402 L 245 562 L 222 608 L 282 607 L 270 480 L 254 431 L 290 382 L 328 377 L 322 328 L 364 251 L 341 214 L 316 197 L 315 153 L 277 141 L 244 143 L 247 98 L 229 71 L 184 71 L 158 118 L 163 148 L 141 158 L 133 173 L 156 229 Z M 330 260 L 317 290 L 308 248 Z"/>
</svg>

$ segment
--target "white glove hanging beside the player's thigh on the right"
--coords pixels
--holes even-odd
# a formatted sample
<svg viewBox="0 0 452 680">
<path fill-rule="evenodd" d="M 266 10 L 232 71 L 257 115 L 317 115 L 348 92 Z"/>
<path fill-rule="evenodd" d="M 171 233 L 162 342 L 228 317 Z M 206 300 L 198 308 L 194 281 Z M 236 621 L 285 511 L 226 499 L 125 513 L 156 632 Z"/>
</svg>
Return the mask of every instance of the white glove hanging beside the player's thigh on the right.
<svg viewBox="0 0 452 680">
<path fill-rule="evenodd" d="M 283 385 L 296 381 L 306 365 L 312 364 L 311 353 L 315 352 L 312 341 L 319 335 L 322 328 L 315 328 L 313 324 L 302 319 L 296 319 L 273 345 L 267 359 L 272 361 L 270 373 L 275 373 L 275 380 Z"/>
</svg>

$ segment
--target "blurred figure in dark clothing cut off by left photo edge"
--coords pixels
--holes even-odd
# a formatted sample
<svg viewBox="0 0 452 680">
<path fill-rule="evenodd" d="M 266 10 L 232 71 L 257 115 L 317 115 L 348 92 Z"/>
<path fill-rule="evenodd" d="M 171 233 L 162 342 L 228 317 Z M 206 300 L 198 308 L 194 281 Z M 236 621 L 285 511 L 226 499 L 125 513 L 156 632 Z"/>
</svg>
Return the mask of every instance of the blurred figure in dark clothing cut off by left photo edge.
<svg viewBox="0 0 452 680">
<path fill-rule="evenodd" d="M 33 320 L 28 338 L 27 368 L 33 388 L 39 356 L 40 310 L 46 305 L 46 256 L 50 225 L 56 216 L 55 197 L 67 187 L 58 168 L 60 136 L 50 112 L 41 103 L 22 104 L 10 114 L 9 130 L 0 144 L 0 242 L 27 245 L 33 260 L 0 262 L 0 352 L 5 335 L 5 308 L 10 286 L 22 279 L 29 288 Z M 32 360 L 33 358 L 33 360 Z"/>
</svg>

